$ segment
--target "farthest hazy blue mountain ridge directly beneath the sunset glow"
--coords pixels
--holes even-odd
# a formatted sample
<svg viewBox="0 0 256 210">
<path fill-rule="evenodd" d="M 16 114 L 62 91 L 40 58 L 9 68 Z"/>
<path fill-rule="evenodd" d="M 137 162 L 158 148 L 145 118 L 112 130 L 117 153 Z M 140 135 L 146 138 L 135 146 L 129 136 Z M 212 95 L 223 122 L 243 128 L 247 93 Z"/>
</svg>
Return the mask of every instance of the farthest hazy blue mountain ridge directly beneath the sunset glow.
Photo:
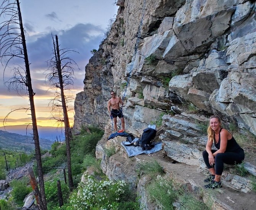
<svg viewBox="0 0 256 210">
<path fill-rule="evenodd" d="M 50 126 L 37 126 L 39 138 L 48 139 L 50 141 L 63 141 L 65 139 L 64 131 L 60 128 L 50 127 Z M 7 131 L 11 133 L 20 134 L 23 136 L 31 136 L 32 125 L 14 125 L 14 126 L 5 126 L 0 127 L 0 130 Z"/>
</svg>

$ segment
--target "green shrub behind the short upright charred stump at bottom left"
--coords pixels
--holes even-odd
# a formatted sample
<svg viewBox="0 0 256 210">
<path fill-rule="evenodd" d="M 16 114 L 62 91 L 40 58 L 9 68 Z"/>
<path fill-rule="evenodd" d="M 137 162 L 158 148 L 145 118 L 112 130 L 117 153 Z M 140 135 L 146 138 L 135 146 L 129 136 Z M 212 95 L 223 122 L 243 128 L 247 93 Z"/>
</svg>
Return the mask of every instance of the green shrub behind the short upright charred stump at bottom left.
<svg viewBox="0 0 256 210">
<path fill-rule="evenodd" d="M 65 184 L 64 181 L 60 182 L 60 186 L 62 189 L 63 203 L 66 203 L 68 201 L 69 187 Z M 44 187 L 45 187 L 45 196 L 46 196 L 48 209 L 53 209 L 54 207 L 58 207 L 59 202 L 58 202 L 57 180 L 45 182 Z"/>
</svg>

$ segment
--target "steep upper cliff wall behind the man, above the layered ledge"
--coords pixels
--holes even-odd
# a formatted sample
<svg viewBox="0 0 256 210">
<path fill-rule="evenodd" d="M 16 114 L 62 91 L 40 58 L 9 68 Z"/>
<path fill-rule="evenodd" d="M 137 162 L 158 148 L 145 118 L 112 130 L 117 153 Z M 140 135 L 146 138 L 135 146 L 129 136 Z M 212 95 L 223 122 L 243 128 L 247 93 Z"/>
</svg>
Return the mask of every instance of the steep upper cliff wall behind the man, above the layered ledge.
<svg viewBox="0 0 256 210">
<path fill-rule="evenodd" d="M 126 129 L 134 134 L 182 103 L 256 134 L 255 2 L 147 0 L 133 56 L 143 2 L 118 0 L 109 36 L 86 66 L 74 128 L 98 124 L 110 132 L 107 101 L 115 90 L 125 95 Z"/>
</svg>

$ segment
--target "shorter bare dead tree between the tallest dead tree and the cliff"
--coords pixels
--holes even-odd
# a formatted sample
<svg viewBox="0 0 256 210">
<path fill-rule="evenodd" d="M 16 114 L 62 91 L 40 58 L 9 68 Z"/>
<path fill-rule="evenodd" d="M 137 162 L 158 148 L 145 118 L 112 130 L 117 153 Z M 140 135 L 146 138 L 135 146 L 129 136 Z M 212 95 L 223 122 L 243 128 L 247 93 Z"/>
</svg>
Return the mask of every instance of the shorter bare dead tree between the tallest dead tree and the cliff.
<svg viewBox="0 0 256 210">
<path fill-rule="evenodd" d="M 64 123 L 65 127 L 65 140 L 66 140 L 66 153 L 67 153 L 67 168 L 68 168 L 68 183 L 70 191 L 73 191 L 74 184 L 71 171 L 71 153 L 70 153 L 70 141 L 72 140 L 72 133 L 70 128 L 70 122 L 68 118 L 68 104 L 72 101 L 72 97 L 66 96 L 64 91 L 70 90 L 70 86 L 74 84 L 74 66 L 78 68 L 76 62 L 69 57 L 70 52 L 73 50 L 60 49 L 58 44 L 58 36 L 52 35 L 53 40 L 53 57 L 48 61 L 49 71 L 46 79 L 50 82 L 51 86 L 56 89 L 56 97 L 52 99 L 52 111 L 56 113 L 59 110 L 58 117 L 53 115 L 53 118 L 61 123 Z M 79 69 L 79 68 L 78 68 Z"/>
</svg>

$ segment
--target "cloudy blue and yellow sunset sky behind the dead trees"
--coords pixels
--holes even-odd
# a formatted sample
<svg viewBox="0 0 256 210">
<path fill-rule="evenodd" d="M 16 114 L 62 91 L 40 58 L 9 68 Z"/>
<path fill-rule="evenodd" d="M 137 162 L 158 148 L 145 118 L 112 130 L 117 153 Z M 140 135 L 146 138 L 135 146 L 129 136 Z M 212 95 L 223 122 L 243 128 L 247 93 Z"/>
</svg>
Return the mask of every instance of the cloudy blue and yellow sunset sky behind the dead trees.
<svg viewBox="0 0 256 210">
<path fill-rule="evenodd" d="M 34 102 L 38 125 L 58 126 L 56 121 L 49 120 L 51 116 L 49 102 L 55 96 L 55 91 L 50 89 L 49 83 L 45 81 L 45 71 L 49 68 L 47 60 L 52 57 L 51 34 L 58 35 L 60 48 L 78 52 L 69 54 L 79 68 L 74 69 L 76 80 L 71 92 L 66 93 L 75 97 L 78 92 L 83 91 L 84 69 L 92 56 L 90 51 L 99 48 L 109 19 L 115 18 L 117 14 L 118 7 L 113 5 L 113 2 L 114 0 L 20 0 L 31 63 L 32 88 L 36 93 Z M 3 21 L 3 17 L 0 21 Z M 14 90 L 8 91 L 4 85 L 4 82 L 12 76 L 11 68 L 14 65 L 15 61 L 11 61 L 10 68 L 5 70 L 5 74 L 3 67 L 0 66 L 0 126 L 10 111 L 29 107 L 29 100 L 24 92 L 21 93 L 21 97 Z M 11 112 L 5 125 L 31 123 L 29 114 L 30 111 L 26 110 Z M 71 110 L 69 112 L 71 123 L 73 115 L 74 110 Z"/>
</svg>

